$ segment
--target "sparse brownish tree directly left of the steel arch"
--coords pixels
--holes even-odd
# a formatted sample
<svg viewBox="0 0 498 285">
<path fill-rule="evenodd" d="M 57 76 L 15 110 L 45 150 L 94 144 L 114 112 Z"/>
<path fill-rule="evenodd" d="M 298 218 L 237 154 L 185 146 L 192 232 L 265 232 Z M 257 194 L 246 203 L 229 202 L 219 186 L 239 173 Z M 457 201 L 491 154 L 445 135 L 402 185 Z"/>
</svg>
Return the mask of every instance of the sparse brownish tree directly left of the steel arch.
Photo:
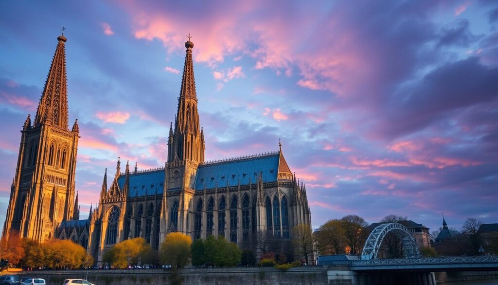
<svg viewBox="0 0 498 285">
<path fill-rule="evenodd" d="M 341 221 L 344 227 L 345 243 L 350 248 L 350 254 L 359 255 L 367 238 L 364 230 L 369 224 L 357 215 L 345 216 Z"/>
</svg>

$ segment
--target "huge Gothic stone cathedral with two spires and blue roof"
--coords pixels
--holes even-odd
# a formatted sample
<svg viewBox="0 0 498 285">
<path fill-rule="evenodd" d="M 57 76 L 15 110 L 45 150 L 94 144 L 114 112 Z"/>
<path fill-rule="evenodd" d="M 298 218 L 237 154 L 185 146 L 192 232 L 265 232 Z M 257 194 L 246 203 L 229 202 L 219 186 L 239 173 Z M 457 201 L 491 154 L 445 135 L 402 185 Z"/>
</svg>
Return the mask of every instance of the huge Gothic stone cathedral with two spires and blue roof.
<svg viewBox="0 0 498 285">
<path fill-rule="evenodd" d="M 205 161 L 204 130 L 197 111 L 190 38 L 174 125 L 164 166 L 104 173 L 99 202 L 80 220 L 74 175 L 78 121 L 68 129 L 66 37 L 59 36 L 36 118 L 26 118 L 3 236 L 44 241 L 71 239 L 102 263 L 103 253 L 126 239 L 144 238 L 158 249 L 166 234 L 192 240 L 224 236 L 254 248 L 258 236 L 290 240 L 298 224 L 311 226 L 306 187 L 282 152 Z M 108 177 L 109 176 L 109 177 Z"/>
</svg>

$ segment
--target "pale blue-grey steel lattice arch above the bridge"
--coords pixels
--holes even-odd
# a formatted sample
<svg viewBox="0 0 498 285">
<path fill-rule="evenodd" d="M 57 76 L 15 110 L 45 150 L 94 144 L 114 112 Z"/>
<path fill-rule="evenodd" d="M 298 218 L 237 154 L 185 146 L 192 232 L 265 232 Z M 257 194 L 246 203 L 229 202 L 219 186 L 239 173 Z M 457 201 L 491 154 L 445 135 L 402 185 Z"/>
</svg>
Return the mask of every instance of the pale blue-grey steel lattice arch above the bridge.
<svg viewBox="0 0 498 285">
<path fill-rule="evenodd" d="M 381 224 L 370 233 L 362 252 L 362 260 L 375 260 L 384 237 L 392 232 L 402 243 L 405 258 L 420 258 L 420 250 L 408 229 L 398 223 Z"/>
</svg>

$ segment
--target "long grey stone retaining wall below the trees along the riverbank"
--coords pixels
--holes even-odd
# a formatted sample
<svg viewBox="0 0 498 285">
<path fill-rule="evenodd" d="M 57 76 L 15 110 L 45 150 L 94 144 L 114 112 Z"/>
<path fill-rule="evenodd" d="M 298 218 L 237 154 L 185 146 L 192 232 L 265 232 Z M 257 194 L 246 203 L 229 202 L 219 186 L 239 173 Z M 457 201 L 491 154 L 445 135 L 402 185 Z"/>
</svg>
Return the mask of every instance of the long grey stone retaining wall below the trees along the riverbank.
<svg viewBox="0 0 498 285">
<path fill-rule="evenodd" d="M 87 279 L 96 285 L 327 285 L 327 268 L 299 267 L 287 272 L 274 268 L 206 268 L 171 270 L 33 271 L 23 276 L 43 278 L 47 285 L 65 279 Z"/>
</svg>

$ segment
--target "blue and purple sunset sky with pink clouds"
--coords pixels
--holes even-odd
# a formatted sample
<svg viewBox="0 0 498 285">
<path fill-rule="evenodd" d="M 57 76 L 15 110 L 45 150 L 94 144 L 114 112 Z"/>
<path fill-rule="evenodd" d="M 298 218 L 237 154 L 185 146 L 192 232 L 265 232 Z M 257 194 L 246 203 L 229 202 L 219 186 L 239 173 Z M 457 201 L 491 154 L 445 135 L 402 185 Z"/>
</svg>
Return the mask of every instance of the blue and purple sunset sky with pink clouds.
<svg viewBox="0 0 498 285">
<path fill-rule="evenodd" d="M 190 33 L 207 160 L 280 137 L 313 228 L 498 223 L 498 1 L 1 1 L 1 226 L 62 26 L 81 217 L 118 156 L 164 165 Z"/>
</svg>

